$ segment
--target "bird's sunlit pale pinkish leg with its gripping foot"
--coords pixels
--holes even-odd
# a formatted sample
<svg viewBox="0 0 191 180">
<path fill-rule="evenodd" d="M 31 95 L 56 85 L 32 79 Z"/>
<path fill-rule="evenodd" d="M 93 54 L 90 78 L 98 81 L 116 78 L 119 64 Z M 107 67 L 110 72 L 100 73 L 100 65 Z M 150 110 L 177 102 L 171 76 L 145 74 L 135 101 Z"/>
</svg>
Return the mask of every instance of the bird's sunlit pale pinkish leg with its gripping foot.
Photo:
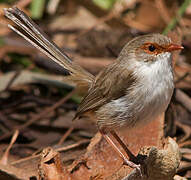
<svg viewBox="0 0 191 180">
<path fill-rule="evenodd" d="M 117 147 L 117 145 L 113 142 L 113 140 L 109 137 L 108 133 L 100 131 L 105 140 L 113 147 L 115 152 L 123 159 L 124 164 L 130 166 L 131 168 L 136 168 L 138 171 L 140 170 L 140 165 L 135 164 L 132 161 L 129 161 L 126 156 L 121 152 L 121 150 Z"/>
</svg>

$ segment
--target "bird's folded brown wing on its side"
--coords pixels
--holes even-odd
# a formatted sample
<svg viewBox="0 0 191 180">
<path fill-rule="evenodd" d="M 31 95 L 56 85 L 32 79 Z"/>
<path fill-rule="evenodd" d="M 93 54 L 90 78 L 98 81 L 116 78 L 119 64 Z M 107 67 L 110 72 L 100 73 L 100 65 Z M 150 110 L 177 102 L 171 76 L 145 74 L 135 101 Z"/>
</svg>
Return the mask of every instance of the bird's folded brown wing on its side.
<svg viewBox="0 0 191 180">
<path fill-rule="evenodd" d="M 124 96 L 127 87 L 134 82 L 132 73 L 124 67 L 111 64 L 95 79 L 94 84 L 84 97 L 76 113 L 76 117 L 90 110 L 97 110 L 100 106 Z"/>
</svg>

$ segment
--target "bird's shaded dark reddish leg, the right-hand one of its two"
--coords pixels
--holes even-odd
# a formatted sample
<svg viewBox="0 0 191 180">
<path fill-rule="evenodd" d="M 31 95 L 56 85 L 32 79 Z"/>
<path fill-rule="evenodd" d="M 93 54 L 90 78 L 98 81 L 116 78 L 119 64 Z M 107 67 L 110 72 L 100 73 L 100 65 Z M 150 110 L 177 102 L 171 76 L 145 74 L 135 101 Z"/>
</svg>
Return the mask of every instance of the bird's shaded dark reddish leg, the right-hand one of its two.
<svg viewBox="0 0 191 180">
<path fill-rule="evenodd" d="M 117 135 L 117 133 L 115 131 L 113 131 L 113 130 L 110 131 L 110 133 L 116 139 L 116 141 L 121 145 L 123 150 L 127 153 L 127 155 L 129 156 L 129 160 L 137 164 L 138 160 L 137 160 L 136 156 L 134 156 L 134 154 L 128 149 L 128 147 L 124 144 L 124 142 Z"/>
</svg>

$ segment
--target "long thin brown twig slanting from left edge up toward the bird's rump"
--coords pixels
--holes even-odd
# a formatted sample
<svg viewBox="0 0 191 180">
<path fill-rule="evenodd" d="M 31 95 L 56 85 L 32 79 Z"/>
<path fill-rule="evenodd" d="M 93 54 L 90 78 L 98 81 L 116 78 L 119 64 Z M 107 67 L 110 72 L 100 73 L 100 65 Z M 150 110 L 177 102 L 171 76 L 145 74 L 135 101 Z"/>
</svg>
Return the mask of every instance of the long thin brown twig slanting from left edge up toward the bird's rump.
<svg viewBox="0 0 191 180">
<path fill-rule="evenodd" d="M 60 105 L 62 105 L 64 102 L 66 102 L 68 99 L 71 98 L 71 96 L 75 93 L 75 90 L 73 90 L 72 92 L 70 92 L 67 96 L 65 96 L 64 98 L 62 98 L 60 101 L 58 101 L 56 104 L 54 104 L 52 107 L 47 108 L 46 110 L 44 110 L 43 112 L 41 112 L 40 114 L 34 116 L 32 119 L 30 119 L 29 121 L 27 121 L 25 124 L 21 125 L 21 126 L 17 126 L 16 129 L 18 129 L 19 131 L 25 129 L 26 127 L 30 126 L 31 124 L 33 124 L 35 121 L 39 120 L 40 118 L 42 118 L 43 116 L 46 116 L 47 113 L 52 112 L 54 109 L 58 108 Z M 0 137 L 0 140 L 5 139 L 9 136 L 11 136 L 11 134 L 14 133 L 15 130 L 12 130 L 4 135 L 2 135 Z"/>
</svg>

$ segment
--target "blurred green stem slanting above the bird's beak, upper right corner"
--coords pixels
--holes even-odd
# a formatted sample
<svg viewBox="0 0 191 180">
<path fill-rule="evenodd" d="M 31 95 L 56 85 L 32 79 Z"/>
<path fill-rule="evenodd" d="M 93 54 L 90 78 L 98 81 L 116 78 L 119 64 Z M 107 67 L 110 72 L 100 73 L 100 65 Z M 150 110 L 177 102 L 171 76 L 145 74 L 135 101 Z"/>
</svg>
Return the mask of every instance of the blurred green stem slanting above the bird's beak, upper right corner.
<svg viewBox="0 0 191 180">
<path fill-rule="evenodd" d="M 168 34 L 168 32 L 170 30 L 172 30 L 176 24 L 179 22 L 179 20 L 181 19 L 181 17 L 183 16 L 184 12 L 186 11 L 186 8 L 189 6 L 189 4 L 191 3 L 191 0 L 185 0 L 184 3 L 180 6 L 180 8 L 178 9 L 177 12 L 177 16 L 174 17 L 170 23 L 168 24 L 168 26 L 165 28 L 165 30 L 163 31 L 163 34 Z"/>
</svg>

